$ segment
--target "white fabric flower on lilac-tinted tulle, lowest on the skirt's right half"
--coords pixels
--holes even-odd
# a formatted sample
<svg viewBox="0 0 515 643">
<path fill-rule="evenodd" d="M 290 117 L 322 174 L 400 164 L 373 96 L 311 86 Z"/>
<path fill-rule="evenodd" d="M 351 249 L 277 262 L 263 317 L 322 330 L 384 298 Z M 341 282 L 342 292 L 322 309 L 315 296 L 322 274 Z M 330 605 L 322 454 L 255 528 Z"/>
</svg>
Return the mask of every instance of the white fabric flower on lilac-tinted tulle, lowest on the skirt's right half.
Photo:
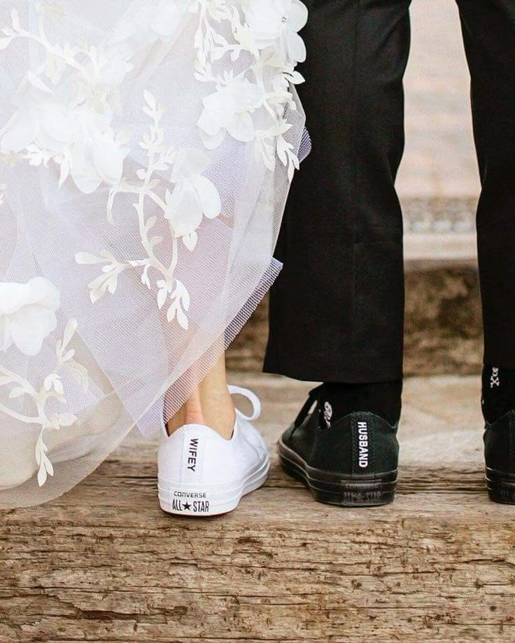
<svg viewBox="0 0 515 643">
<path fill-rule="evenodd" d="M 178 151 L 171 182 L 174 191 L 167 191 L 164 216 L 171 222 L 178 237 L 192 235 L 204 214 L 214 219 L 222 210 L 220 195 L 213 181 L 202 177 L 209 166 L 209 156 L 199 150 L 183 148 Z"/>
</svg>

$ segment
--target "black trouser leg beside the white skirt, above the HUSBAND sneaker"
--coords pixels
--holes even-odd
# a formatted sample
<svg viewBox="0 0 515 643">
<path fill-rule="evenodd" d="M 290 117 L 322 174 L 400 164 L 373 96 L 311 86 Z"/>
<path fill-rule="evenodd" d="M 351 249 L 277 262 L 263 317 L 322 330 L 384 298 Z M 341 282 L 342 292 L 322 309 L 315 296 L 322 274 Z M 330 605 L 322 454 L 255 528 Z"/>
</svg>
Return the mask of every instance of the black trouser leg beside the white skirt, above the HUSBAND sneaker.
<svg viewBox="0 0 515 643">
<path fill-rule="evenodd" d="M 276 255 L 265 370 L 303 380 L 402 377 L 402 77 L 409 0 L 315 0 L 299 87 L 313 152 Z"/>
</svg>

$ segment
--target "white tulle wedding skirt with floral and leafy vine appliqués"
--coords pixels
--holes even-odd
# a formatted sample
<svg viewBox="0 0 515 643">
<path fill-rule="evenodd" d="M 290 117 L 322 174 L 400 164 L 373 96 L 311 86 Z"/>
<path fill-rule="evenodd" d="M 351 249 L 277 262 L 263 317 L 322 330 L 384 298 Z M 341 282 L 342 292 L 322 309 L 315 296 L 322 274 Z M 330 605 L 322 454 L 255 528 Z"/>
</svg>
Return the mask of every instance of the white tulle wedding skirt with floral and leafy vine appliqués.
<svg viewBox="0 0 515 643">
<path fill-rule="evenodd" d="M 299 0 L 0 0 L 0 506 L 174 415 L 248 319 L 304 117 Z"/>
</svg>

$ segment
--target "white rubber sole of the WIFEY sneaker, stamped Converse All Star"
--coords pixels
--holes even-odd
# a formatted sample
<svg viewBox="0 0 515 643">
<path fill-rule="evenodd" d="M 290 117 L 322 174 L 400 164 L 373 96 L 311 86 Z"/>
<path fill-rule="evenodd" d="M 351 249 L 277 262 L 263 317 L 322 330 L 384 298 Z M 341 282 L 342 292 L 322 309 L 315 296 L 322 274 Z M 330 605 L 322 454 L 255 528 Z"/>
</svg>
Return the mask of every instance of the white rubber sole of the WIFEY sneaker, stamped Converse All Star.
<svg viewBox="0 0 515 643">
<path fill-rule="evenodd" d="M 163 511 L 176 516 L 206 518 L 234 511 L 244 495 L 260 488 L 267 480 L 269 458 L 249 471 L 241 483 L 227 489 L 225 485 L 190 487 L 158 479 L 159 504 Z"/>
</svg>

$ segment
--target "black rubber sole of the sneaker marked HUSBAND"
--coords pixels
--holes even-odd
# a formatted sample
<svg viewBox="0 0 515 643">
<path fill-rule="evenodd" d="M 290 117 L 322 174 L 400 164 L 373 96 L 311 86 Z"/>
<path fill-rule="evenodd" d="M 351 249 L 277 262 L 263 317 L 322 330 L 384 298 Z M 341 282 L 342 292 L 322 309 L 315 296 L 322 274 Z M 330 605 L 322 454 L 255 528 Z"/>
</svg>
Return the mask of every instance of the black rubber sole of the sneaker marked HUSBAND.
<svg viewBox="0 0 515 643">
<path fill-rule="evenodd" d="M 397 469 L 374 475 L 332 473 L 315 469 L 279 441 L 279 457 L 286 473 L 301 480 L 317 502 L 341 507 L 372 507 L 393 502 Z"/>
</svg>

